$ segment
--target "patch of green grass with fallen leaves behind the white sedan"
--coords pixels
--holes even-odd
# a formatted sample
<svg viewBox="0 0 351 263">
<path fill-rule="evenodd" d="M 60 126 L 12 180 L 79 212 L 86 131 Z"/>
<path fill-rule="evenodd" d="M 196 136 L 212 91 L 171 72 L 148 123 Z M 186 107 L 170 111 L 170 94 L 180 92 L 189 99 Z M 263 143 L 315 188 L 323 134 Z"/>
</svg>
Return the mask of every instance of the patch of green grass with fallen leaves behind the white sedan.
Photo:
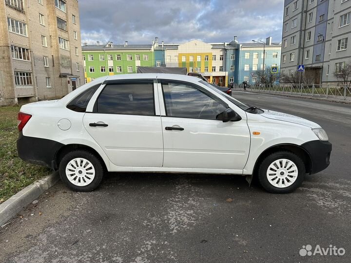
<svg viewBox="0 0 351 263">
<path fill-rule="evenodd" d="M 0 203 L 50 173 L 50 169 L 25 163 L 18 157 L 19 111 L 19 106 L 0 107 Z"/>
</svg>

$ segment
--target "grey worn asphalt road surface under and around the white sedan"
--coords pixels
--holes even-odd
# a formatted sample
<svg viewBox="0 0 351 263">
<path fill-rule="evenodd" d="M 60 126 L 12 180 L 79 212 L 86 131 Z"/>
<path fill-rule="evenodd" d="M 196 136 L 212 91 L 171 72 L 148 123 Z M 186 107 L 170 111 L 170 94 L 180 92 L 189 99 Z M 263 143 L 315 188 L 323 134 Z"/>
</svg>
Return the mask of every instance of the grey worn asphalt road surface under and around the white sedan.
<svg viewBox="0 0 351 263">
<path fill-rule="evenodd" d="M 319 123 L 330 167 L 285 195 L 230 175 L 112 173 L 89 193 L 59 183 L 0 230 L 0 262 L 351 262 L 351 105 L 233 96 Z M 300 256 L 308 244 L 345 254 Z"/>
</svg>

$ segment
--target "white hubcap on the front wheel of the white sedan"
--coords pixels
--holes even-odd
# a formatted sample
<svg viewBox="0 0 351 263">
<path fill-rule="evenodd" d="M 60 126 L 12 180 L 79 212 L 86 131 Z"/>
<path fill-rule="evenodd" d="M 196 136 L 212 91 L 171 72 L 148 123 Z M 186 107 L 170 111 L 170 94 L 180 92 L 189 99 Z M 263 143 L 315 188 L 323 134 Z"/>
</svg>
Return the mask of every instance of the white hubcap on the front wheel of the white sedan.
<svg viewBox="0 0 351 263">
<path fill-rule="evenodd" d="M 297 166 L 288 159 L 274 161 L 267 169 L 267 179 L 277 188 L 286 188 L 295 182 L 298 175 Z"/>
</svg>

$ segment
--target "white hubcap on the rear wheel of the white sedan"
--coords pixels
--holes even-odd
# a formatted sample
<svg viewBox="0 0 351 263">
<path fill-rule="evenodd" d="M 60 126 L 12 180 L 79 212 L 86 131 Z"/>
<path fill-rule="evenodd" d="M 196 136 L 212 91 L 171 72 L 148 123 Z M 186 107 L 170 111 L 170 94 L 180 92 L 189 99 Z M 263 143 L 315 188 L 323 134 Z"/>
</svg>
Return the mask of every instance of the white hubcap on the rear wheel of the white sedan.
<svg viewBox="0 0 351 263">
<path fill-rule="evenodd" d="M 87 159 L 75 158 L 67 164 L 66 176 L 75 186 L 87 186 L 94 180 L 95 169 Z"/>
</svg>

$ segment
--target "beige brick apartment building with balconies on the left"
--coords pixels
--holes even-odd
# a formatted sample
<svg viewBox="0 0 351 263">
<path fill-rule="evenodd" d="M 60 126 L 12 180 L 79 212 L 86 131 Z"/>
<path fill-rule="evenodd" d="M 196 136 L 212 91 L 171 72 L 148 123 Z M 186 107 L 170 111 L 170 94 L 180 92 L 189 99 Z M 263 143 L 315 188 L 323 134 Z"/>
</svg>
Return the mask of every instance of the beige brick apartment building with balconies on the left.
<svg viewBox="0 0 351 263">
<path fill-rule="evenodd" d="M 0 0 L 0 36 L 0 105 L 84 84 L 78 0 Z"/>
</svg>

